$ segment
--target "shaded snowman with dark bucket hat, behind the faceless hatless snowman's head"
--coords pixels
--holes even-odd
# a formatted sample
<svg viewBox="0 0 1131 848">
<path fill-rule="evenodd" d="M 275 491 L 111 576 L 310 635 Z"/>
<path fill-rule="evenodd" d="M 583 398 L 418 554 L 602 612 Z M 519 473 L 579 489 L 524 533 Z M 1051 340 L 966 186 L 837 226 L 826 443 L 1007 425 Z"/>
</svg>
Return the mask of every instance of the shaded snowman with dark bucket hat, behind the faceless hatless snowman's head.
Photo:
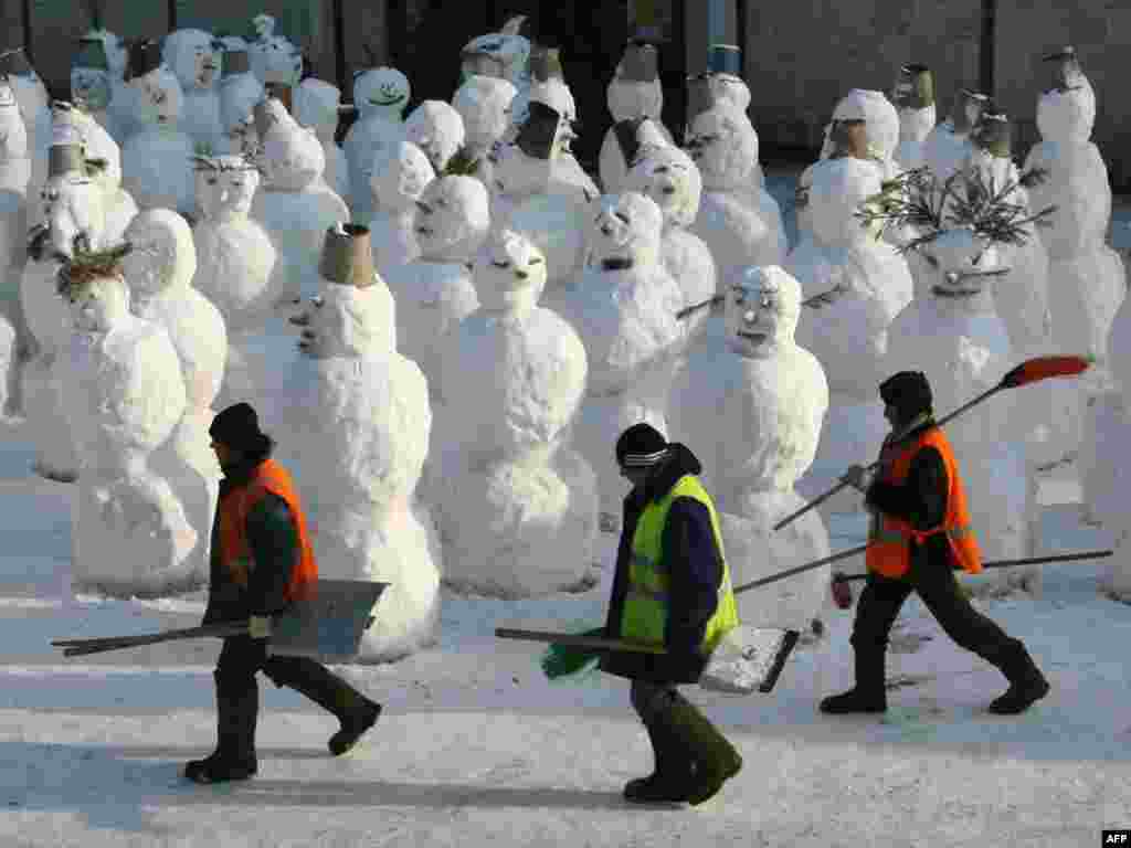
<svg viewBox="0 0 1131 848">
<path fill-rule="evenodd" d="M 130 86 L 140 129 L 122 148 L 122 188 L 141 209 L 175 209 L 192 217 L 192 138 L 180 129 L 181 84 L 162 63 L 154 41 L 130 47 Z"/>
</svg>

